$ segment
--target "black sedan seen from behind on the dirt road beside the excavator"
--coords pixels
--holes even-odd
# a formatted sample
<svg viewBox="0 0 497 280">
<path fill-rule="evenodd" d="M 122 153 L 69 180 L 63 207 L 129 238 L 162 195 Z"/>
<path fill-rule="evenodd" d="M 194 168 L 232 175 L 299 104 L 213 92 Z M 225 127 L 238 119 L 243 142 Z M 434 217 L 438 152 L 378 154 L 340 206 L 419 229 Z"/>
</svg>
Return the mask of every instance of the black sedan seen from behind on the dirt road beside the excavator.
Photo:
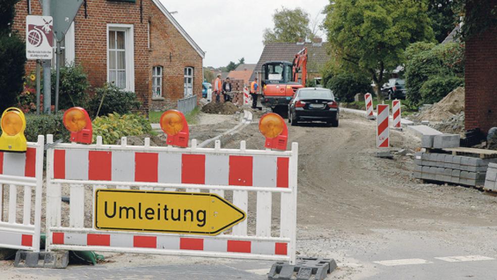
<svg viewBox="0 0 497 280">
<path fill-rule="evenodd" d="M 299 88 L 288 105 L 288 122 L 323 121 L 338 126 L 338 103 L 333 92 L 327 88 Z"/>
</svg>

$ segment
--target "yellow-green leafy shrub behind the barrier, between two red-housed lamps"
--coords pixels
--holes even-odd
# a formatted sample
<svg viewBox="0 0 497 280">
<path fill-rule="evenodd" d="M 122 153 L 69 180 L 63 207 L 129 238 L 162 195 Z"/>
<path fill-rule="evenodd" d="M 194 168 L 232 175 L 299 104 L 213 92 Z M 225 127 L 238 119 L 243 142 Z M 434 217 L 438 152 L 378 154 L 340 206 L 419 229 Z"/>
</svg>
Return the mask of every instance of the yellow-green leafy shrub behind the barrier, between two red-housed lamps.
<svg viewBox="0 0 497 280">
<path fill-rule="evenodd" d="M 121 137 L 151 134 L 153 131 L 150 122 L 138 114 L 113 113 L 95 118 L 92 125 L 93 143 L 98 135 L 102 136 L 104 144 L 116 144 Z"/>
</svg>

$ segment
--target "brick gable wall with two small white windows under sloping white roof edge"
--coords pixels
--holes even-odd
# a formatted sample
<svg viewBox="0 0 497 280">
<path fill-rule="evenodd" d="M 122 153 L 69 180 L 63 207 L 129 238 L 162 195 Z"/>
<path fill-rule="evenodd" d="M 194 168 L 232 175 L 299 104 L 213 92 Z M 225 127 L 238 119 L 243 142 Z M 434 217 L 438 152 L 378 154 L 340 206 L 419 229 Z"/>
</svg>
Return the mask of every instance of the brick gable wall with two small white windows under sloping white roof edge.
<svg viewBox="0 0 497 280">
<path fill-rule="evenodd" d="M 202 57 L 155 5 L 150 16 L 151 63 L 162 66 L 161 100 L 151 101 L 151 110 L 176 108 L 184 96 L 183 71 L 193 67 L 193 95 L 202 98 Z"/>
</svg>

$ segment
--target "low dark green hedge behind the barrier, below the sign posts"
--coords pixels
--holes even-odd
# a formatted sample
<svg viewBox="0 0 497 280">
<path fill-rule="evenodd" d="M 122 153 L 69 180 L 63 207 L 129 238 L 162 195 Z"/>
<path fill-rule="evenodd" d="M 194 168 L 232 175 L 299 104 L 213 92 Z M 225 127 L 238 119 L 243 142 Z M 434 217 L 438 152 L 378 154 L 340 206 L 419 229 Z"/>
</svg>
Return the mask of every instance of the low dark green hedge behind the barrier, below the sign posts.
<svg viewBox="0 0 497 280">
<path fill-rule="evenodd" d="M 38 135 L 54 134 L 54 141 L 69 141 L 69 131 L 64 127 L 63 114 L 35 115 L 26 114 L 26 130 L 24 134 L 29 142 L 36 142 Z"/>
</svg>

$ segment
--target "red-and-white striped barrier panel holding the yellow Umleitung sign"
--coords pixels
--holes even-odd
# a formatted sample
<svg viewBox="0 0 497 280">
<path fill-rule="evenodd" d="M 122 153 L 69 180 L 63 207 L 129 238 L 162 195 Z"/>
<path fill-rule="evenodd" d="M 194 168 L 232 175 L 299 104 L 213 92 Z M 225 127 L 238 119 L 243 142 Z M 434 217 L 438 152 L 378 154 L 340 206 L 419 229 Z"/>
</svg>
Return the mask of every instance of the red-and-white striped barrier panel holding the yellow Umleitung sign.
<svg viewBox="0 0 497 280">
<path fill-rule="evenodd" d="M 52 135 L 47 136 L 52 143 Z M 55 144 L 47 150 L 48 250 L 295 261 L 298 146 L 291 151 Z M 94 226 L 97 189 L 213 193 L 247 218 L 217 236 L 106 231 Z M 61 202 L 69 195 L 70 204 Z M 279 208 L 279 209 L 278 209 Z M 67 218 L 68 217 L 68 218 Z"/>
</svg>

